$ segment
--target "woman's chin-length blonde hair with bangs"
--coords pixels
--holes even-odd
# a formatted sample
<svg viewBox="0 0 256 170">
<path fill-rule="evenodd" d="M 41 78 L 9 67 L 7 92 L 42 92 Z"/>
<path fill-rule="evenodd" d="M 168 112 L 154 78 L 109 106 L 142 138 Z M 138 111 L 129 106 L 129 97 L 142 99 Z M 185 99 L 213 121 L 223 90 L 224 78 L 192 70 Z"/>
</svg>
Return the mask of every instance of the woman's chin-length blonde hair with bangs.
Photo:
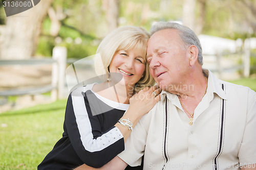
<svg viewBox="0 0 256 170">
<path fill-rule="evenodd" d="M 129 51 L 138 49 L 143 54 L 145 71 L 143 77 L 135 84 L 135 92 L 146 86 L 154 85 L 155 81 L 150 75 L 150 67 L 146 62 L 146 44 L 150 34 L 143 28 L 135 26 L 124 26 L 117 28 L 108 34 L 99 44 L 95 57 L 96 74 L 110 78 L 109 65 L 114 54 L 119 50 Z"/>
</svg>

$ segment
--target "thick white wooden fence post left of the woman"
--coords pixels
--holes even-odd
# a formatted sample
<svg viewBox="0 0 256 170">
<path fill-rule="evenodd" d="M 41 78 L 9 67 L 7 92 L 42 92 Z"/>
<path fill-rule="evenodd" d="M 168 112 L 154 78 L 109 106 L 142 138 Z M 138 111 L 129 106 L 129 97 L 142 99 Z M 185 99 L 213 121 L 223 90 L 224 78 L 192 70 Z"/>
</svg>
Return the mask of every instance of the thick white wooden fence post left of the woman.
<svg viewBox="0 0 256 170">
<path fill-rule="evenodd" d="M 55 46 L 53 48 L 53 59 L 56 63 L 52 68 L 52 85 L 57 90 L 52 91 L 52 100 L 63 99 L 65 97 L 65 70 L 67 64 L 67 48 L 63 46 Z"/>
</svg>

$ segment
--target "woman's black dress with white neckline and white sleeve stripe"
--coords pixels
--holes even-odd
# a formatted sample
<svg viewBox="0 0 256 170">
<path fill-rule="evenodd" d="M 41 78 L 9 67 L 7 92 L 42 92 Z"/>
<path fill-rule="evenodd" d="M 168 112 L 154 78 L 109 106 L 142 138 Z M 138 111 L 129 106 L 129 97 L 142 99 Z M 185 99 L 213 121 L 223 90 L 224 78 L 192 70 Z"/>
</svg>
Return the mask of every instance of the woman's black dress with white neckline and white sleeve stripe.
<svg viewBox="0 0 256 170">
<path fill-rule="evenodd" d="M 84 163 L 101 167 L 124 150 L 122 133 L 114 125 L 129 104 L 103 98 L 93 85 L 70 93 L 62 138 L 38 169 L 72 169 Z"/>
</svg>

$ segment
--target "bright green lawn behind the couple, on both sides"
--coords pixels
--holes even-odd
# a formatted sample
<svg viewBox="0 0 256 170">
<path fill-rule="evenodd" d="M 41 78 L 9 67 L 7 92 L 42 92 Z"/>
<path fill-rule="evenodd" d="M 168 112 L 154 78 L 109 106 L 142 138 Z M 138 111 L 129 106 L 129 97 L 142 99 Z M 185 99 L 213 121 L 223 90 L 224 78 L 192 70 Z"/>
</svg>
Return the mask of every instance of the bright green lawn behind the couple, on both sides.
<svg viewBox="0 0 256 170">
<path fill-rule="evenodd" d="M 229 81 L 256 91 L 256 78 Z M 0 170 L 37 169 L 62 136 L 66 100 L 0 114 Z M 3 127 L 7 125 L 7 127 Z"/>
</svg>

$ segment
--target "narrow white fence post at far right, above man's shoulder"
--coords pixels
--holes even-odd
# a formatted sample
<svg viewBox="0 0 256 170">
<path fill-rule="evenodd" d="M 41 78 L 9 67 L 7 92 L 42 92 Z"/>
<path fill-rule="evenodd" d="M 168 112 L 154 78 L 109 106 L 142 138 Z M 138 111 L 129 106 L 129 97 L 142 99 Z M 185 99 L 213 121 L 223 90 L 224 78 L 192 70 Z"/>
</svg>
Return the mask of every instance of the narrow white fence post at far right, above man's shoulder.
<svg viewBox="0 0 256 170">
<path fill-rule="evenodd" d="M 250 39 L 244 41 L 244 77 L 250 76 Z"/>
</svg>

